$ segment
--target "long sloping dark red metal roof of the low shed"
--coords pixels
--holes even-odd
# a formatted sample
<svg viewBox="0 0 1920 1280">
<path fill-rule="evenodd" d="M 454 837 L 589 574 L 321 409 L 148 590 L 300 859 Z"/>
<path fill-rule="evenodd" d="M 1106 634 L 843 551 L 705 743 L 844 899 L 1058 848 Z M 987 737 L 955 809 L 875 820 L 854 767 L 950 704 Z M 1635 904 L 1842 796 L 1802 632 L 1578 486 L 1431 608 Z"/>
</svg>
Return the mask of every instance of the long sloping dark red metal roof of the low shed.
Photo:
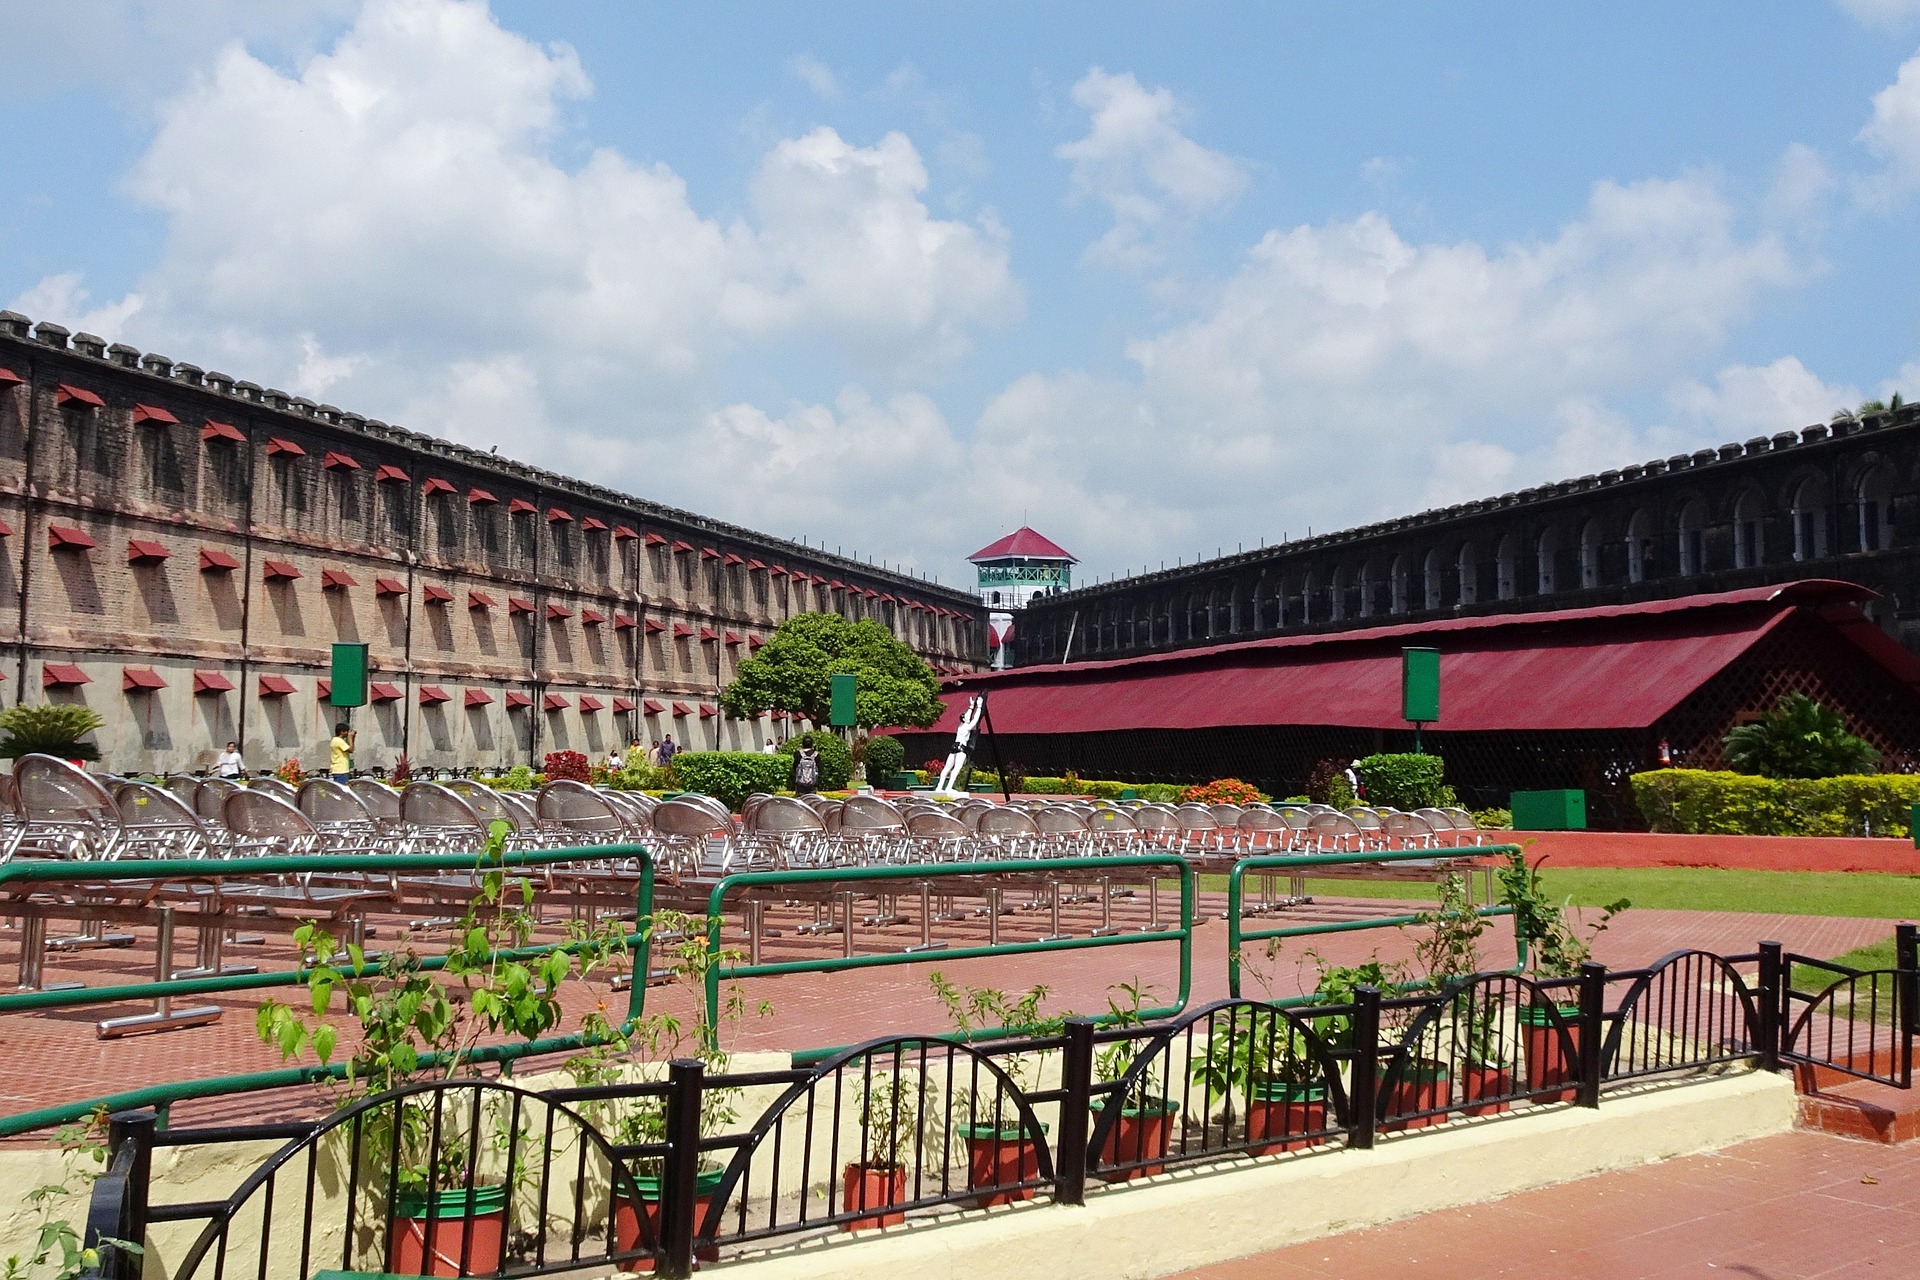
<svg viewBox="0 0 1920 1280">
<path fill-rule="evenodd" d="M 1849 606 L 1870 595 L 1851 583 L 1801 581 L 1020 668 L 952 681 L 933 731 L 952 731 L 975 689 L 993 693 L 1000 733 L 1273 723 L 1404 729 L 1400 649 L 1415 643 L 1440 649 L 1438 729 L 1640 729 L 1797 606 Z M 1897 670 L 1903 679 L 1920 677 L 1912 658 Z"/>
</svg>

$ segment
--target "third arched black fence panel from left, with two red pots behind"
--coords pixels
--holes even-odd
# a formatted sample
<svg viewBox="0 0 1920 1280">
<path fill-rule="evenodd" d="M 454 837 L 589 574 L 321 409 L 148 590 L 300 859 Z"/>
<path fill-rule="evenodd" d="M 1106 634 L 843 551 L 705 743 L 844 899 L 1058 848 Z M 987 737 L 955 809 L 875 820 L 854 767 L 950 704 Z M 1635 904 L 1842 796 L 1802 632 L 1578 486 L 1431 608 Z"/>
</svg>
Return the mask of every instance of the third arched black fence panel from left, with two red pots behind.
<svg viewBox="0 0 1920 1280">
<path fill-rule="evenodd" d="M 1344 1136 L 1352 1115 L 1336 1046 L 1352 1025 L 1352 1006 L 1221 1000 L 1171 1023 L 1092 1032 L 1087 1171 L 1125 1182 Z"/>
</svg>

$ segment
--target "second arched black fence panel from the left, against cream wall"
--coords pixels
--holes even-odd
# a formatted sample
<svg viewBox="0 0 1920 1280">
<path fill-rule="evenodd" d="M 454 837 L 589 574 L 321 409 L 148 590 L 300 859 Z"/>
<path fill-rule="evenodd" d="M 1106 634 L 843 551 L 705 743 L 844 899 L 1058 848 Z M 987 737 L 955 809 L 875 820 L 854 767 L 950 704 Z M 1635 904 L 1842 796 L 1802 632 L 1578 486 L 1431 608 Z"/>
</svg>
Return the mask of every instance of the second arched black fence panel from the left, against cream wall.
<svg viewBox="0 0 1920 1280">
<path fill-rule="evenodd" d="M 745 1132 L 703 1140 L 695 1251 L 795 1230 L 885 1226 L 939 1205 L 1029 1199 L 1054 1180 L 1062 1038 L 893 1036 L 804 1071 L 707 1080 L 710 1115 L 785 1082 Z M 1048 1119 L 1041 1119 L 1043 1111 Z M 720 1126 L 720 1125 L 716 1125 Z M 703 1125 L 705 1128 L 705 1125 Z M 718 1163 L 732 1148 L 733 1155 Z"/>
</svg>

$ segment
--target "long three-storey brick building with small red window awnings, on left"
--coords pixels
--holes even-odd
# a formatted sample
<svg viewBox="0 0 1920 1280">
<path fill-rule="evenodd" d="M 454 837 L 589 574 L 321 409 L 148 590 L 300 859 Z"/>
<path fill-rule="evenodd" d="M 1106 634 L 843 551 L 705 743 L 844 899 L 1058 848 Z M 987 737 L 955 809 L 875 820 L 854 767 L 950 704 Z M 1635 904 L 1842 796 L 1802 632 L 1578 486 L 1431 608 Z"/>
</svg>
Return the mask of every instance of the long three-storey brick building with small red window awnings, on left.
<svg viewBox="0 0 1920 1280">
<path fill-rule="evenodd" d="M 797 612 L 937 672 L 977 597 L 161 355 L 0 313 L 6 702 L 84 702 L 119 771 L 324 766 L 334 641 L 371 647 L 359 766 L 503 768 L 632 737 L 751 748 L 720 689 Z"/>
</svg>

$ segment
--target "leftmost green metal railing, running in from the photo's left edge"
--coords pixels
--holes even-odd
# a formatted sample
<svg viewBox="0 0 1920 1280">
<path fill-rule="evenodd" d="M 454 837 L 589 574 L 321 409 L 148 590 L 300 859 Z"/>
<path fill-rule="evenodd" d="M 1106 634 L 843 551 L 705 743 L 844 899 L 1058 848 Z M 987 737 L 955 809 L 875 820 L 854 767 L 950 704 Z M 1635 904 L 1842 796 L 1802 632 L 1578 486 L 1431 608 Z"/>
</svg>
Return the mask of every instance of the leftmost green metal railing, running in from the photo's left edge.
<svg viewBox="0 0 1920 1280">
<path fill-rule="evenodd" d="M 643 844 L 591 844 L 582 848 L 538 848 L 511 850 L 499 856 L 486 854 L 294 854 L 278 858 L 154 858 L 144 862 L 15 862 L 0 867 L 0 894 L 10 885 L 102 885 L 102 883 L 152 883 L 152 881 L 211 881 L 227 877 L 267 877 L 267 875 L 369 875 L 386 871 L 492 871 L 518 867 L 549 867 L 566 862 L 605 862 L 609 858 L 634 858 L 639 862 L 639 885 L 634 892 L 636 923 L 653 915 L 653 858 Z M 4 902 L 0 902 L 4 913 Z M 188 925 L 192 919 L 188 917 Z M 628 994 L 626 1021 L 641 1017 L 647 998 L 643 975 L 651 965 L 649 935 L 636 931 L 626 936 L 634 948 L 636 981 Z M 551 942 L 499 952 L 501 958 L 520 960 L 564 950 L 578 952 L 584 942 Z M 369 960 L 367 969 L 378 971 L 382 961 Z M 420 961 L 424 969 L 440 969 L 445 960 L 430 956 Z M 90 1004 L 113 1004 L 127 1000 L 156 1000 L 159 996 L 209 996 L 221 992 L 263 990 L 273 986 L 301 986 L 311 969 L 278 969 L 273 973 L 228 973 L 196 979 L 173 979 L 167 983 L 138 983 L 117 986 L 83 986 L 73 990 L 36 990 L 0 996 L 0 1013 L 19 1013 L 31 1009 L 81 1007 Z M 561 1054 L 586 1048 L 593 1040 L 582 1034 L 547 1036 L 522 1044 L 482 1046 L 463 1059 L 476 1063 L 511 1063 L 520 1057 L 540 1054 Z M 422 1055 L 422 1065 L 438 1061 L 436 1055 Z M 344 1079 L 346 1063 L 330 1067 L 282 1067 L 276 1071 L 248 1071 L 240 1075 L 209 1077 L 204 1080 L 175 1080 L 169 1084 L 150 1084 L 144 1088 L 106 1094 L 83 1102 L 21 1111 L 0 1117 L 0 1138 L 50 1128 L 79 1121 L 92 1111 L 146 1109 L 159 1111 L 165 1119 L 175 1102 L 192 1098 L 219 1098 L 225 1094 L 248 1094 L 292 1084 L 313 1084 L 328 1079 Z"/>
</svg>

